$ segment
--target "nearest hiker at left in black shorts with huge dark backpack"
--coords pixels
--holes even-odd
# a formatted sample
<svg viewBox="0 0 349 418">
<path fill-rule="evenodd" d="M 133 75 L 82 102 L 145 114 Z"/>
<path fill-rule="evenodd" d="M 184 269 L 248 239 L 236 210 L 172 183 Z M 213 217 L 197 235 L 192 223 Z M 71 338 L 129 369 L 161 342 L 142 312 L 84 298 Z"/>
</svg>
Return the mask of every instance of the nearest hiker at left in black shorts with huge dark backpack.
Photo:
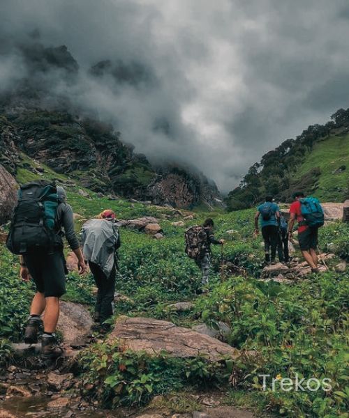
<svg viewBox="0 0 349 418">
<path fill-rule="evenodd" d="M 20 255 L 22 280 L 29 281 L 32 277 L 36 284 L 24 343 L 37 343 L 38 333 L 43 329 L 41 353 L 45 359 L 54 359 L 63 353 L 54 334 L 59 298 L 66 293 L 68 272 L 63 235 L 77 256 L 80 274 L 84 273 L 86 267 L 74 231 L 73 210 L 66 203 L 64 189 L 45 180 L 22 185 L 6 245 L 13 254 Z"/>
</svg>

